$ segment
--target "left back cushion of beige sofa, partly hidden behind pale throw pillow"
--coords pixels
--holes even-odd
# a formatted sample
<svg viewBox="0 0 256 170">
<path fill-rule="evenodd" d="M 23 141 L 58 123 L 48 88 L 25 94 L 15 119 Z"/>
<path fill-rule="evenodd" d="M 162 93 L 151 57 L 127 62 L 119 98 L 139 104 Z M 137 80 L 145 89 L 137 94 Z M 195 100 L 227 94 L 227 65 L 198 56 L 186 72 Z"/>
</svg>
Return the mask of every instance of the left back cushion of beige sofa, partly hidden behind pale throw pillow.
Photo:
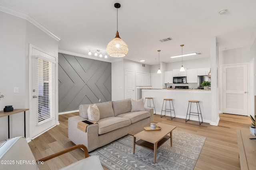
<svg viewBox="0 0 256 170">
<path fill-rule="evenodd" d="M 97 103 L 96 105 L 100 111 L 100 119 L 114 116 L 112 102 Z M 90 104 L 82 104 L 79 106 L 79 114 L 84 119 L 88 119 L 87 109 L 89 106 Z"/>
</svg>

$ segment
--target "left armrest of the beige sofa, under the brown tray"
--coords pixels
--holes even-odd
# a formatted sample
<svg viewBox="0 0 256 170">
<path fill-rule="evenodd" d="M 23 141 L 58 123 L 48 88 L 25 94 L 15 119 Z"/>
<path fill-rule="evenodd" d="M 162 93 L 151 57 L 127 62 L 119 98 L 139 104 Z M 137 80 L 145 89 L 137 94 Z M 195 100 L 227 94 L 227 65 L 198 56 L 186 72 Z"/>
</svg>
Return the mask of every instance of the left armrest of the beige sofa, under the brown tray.
<svg viewBox="0 0 256 170">
<path fill-rule="evenodd" d="M 98 124 L 87 126 L 86 132 L 77 128 L 79 121 L 86 119 L 80 116 L 74 116 L 68 118 L 68 138 L 76 145 L 85 145 L 88 151 L 92 151 L 99 146 L 98 138 Z"/>
</svg>

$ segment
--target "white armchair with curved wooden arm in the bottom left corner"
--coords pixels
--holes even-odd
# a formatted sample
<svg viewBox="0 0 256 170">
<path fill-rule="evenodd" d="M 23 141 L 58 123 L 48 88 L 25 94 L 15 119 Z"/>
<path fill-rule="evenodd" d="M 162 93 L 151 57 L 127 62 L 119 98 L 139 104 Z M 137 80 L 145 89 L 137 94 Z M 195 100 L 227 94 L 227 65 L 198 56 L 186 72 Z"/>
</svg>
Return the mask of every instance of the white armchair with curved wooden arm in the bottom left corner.
<svg viewBox="0 0 256 170">
<path fill-rule="evenodd" d="M 98 156 L 89 156 L 84 145 L 76 145 L 56 154 L 35 160 L 24 137 L 15 137 L 0 146 L 0 170 L 39 170 L 37 162 L 47 161 L 75 149 L 82 148 L 85 158 L 70 164 L 61 170 L 103 170 Z M 26 162 L 24 162 L 26 161 Z"/>
</svg>

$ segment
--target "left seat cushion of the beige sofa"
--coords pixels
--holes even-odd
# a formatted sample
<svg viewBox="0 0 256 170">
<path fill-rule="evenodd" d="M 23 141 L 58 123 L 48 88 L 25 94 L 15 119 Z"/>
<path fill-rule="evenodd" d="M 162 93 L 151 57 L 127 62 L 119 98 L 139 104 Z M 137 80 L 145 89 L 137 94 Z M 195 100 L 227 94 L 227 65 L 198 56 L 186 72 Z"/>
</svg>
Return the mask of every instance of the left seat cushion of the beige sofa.
<svg viewBox="0 0 256 170">
<path fill-rule="evenodd" d="M 124 117 L 106 117 L 98 121 L 99 135 L 120 129 L 131 124 L 130 119 Z"/>
</svg>

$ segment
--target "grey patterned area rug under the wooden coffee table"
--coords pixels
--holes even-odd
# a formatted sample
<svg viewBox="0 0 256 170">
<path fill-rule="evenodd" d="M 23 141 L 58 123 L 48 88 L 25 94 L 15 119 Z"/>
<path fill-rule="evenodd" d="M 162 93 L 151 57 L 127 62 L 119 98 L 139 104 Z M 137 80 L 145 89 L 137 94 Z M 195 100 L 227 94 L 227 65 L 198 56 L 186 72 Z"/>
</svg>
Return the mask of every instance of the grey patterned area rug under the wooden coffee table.
<svg viewBox="0 0 256 170">
<path fill-rule="evenodd" d="M 180 131 L 173 131 L 172 137 L 172 147 L 168 139 L 158 148 L 156 164 L 152 150 L 136 145 L 135 154 L 132 154 L 133 137 L 130 135 L 90 155 L 99 156 L 100 162 L 110 170 L 193 170 L 206 138 Z"/>
</svg>

